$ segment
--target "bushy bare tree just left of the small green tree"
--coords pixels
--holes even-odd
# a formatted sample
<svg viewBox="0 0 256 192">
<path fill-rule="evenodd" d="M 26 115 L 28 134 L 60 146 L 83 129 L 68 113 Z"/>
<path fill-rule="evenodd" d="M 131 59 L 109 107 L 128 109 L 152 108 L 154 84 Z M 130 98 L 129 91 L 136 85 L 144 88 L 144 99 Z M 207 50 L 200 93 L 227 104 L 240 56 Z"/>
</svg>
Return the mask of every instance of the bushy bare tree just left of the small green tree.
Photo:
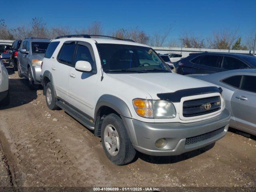
<svg viewBox="0 0 256 192">
<path fill-rule="evenodd" d="M 210 48 L 230 49 L 234 41 L 238 38 L 237 32 L 237 28 L 233 31 L 227 29 L 214 31 L 212 38 L 208 40 Z"/>
</svg>

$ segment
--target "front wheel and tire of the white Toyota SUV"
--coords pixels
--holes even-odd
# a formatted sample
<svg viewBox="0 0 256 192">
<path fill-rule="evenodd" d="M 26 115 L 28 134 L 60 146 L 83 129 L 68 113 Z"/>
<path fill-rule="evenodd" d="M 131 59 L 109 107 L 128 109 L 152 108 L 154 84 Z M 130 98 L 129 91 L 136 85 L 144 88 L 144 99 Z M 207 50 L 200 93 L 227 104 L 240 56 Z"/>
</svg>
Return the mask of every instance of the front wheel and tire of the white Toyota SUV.
<svg viewBox="0 0 256 192">
<path fill-rule="evenodd" d="M 101 140 L 106 156 L 114 164 L 124 165 L 134 159 L 136 150 L 133 148 L 124 123 L 118 115 L 112 113 L 104 118 Z"/>
</svg>

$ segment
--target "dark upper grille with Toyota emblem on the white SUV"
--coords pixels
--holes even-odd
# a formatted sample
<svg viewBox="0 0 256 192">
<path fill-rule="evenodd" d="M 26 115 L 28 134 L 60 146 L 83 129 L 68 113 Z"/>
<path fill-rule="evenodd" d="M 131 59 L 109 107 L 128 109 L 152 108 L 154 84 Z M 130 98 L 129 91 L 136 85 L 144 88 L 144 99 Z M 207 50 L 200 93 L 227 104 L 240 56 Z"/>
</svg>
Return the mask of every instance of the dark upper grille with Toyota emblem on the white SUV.
<svg viewBox="0 0 256 192">
<path fill-rule="evenodd" d="M 210 108 L 207 108 L 210 106 Z M 194 99 L 183 102 L 183 116 L 193 117 L 216 112 L 221 109 L 220 96 Z"/>
</svg>

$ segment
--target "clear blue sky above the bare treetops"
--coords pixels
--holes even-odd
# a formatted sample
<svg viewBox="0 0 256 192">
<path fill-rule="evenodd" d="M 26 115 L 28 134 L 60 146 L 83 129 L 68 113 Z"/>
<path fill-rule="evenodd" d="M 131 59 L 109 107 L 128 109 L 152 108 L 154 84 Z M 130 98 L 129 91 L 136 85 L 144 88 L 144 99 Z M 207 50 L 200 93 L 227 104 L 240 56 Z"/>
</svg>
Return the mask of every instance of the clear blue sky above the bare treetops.
<svg viewBox="0 0 256 192">
<path fill-rule="evenodd" d="M 3 5 L 3 4 L 2 4 Z M 0 19 L 10 28 L 39 17 L 48 26 L 86 28 L 101 22 L 104 32 L 138 26 L 147 34 L 172 26 L 169 39 L 184 32 L 202 38 L 216 30 L 234 30 L 242 40 L 256 29 L 256 0 L 12 0 L 4 1 Z"/>
</svg>

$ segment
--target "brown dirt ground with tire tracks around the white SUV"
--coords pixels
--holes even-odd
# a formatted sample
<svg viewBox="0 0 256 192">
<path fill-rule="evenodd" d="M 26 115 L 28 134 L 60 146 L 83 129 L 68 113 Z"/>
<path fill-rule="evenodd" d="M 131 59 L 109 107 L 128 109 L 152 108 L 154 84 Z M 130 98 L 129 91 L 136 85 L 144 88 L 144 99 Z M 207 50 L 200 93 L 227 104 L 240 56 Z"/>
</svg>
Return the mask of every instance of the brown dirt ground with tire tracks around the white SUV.
<svg viewBox="0 0 256 192">
<path fill-rule="evenodd" d="M 47 108 L 42 89 L 10 74 L 0 108 L 0 186 L 256 186 L 256 140 L 236 132 L 180 156 L 138 153 L 112 164 L 94 137 L 63 110 Z"/>
</svg>

